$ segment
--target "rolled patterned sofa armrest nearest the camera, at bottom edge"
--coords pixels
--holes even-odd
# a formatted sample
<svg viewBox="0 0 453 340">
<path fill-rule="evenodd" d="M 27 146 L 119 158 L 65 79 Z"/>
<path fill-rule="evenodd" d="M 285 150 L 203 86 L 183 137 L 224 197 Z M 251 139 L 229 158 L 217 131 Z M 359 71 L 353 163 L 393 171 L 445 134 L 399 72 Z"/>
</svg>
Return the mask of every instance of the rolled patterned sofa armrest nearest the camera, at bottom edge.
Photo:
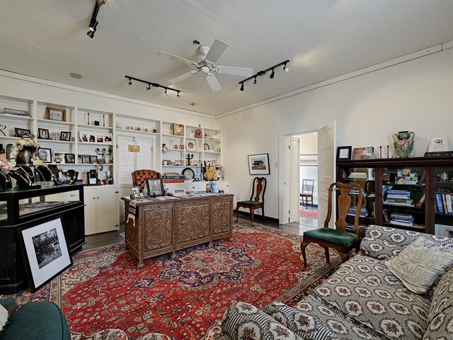
<svg viewBox="0 0 453 340">
<path fill-rule="evenodd" d="M 222 317 L 222 333 L 227 340 L 280 339 L 302 340 L 265 312 L 246 302 L 231 305 Z"/>
</svg>

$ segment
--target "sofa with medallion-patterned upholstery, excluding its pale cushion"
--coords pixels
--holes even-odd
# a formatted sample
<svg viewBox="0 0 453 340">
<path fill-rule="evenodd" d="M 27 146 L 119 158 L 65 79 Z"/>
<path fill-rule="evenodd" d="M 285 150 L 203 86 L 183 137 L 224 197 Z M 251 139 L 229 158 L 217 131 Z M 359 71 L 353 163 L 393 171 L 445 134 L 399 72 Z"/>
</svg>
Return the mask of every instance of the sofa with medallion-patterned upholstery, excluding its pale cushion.
<svg viewBox="0 0 453 340">
<path fill-rule="evenodd" d="M 453 339 L 452 266 L 423 295 L 406 288 L 386 266 L 416 239 L 453 253 L 453 239 L 371 225 L 360 252 L 295 307 L 231 305 L 222 319 L 225 339 Z M 421 273 L 430 267 L 423 266 Z"/>
</svg>

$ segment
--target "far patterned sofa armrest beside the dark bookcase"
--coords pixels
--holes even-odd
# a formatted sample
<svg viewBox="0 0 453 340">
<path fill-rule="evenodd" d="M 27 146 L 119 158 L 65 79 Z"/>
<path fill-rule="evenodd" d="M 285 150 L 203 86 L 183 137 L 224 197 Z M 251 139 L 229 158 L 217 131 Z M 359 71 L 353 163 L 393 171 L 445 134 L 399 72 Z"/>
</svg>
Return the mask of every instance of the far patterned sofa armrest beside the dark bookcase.
<svg viewBox="0 0 453 340">
<path fill-rule="evenodd" d="M 405 246 L 411 244 L 420 236 L 439 246 L 453 244 L 453 239 L 448 237 L 382 227 L 381 225 L 369 225 L 365 232 L 365 237 L 360 243 L 360 251 L 364 255 L 374 257 L 374 259 L 387 260 L 399 254 Z"/>
</svg>

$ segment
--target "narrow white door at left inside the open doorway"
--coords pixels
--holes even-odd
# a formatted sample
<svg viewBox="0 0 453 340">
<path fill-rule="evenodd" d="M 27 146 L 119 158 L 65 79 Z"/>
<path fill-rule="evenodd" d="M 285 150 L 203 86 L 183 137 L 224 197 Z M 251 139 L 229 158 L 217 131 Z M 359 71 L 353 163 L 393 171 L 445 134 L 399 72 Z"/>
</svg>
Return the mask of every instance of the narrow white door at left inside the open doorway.
<svg viewBox="0 0 453 340">
<path fill-rule="evenodd" d="M 300 140 L 289 139 L 289 223 L 299 222 Z"/>
</svg>

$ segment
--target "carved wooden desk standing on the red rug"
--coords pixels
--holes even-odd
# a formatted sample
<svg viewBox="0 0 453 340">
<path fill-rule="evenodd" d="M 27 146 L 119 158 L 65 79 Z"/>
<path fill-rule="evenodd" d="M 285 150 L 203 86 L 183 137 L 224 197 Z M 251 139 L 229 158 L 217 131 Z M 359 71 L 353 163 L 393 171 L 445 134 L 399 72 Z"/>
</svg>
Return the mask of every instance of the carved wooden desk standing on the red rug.
<svg viewBox="0 0 453 340">
<path fill-rule="evenodd" d="M 153 256 L 231 238 L 233 197 L 224 193 L 189 198 L 122 198 L 127 213 L 125 243 L 139 259 L 138 266 Z"/>
</svg>

